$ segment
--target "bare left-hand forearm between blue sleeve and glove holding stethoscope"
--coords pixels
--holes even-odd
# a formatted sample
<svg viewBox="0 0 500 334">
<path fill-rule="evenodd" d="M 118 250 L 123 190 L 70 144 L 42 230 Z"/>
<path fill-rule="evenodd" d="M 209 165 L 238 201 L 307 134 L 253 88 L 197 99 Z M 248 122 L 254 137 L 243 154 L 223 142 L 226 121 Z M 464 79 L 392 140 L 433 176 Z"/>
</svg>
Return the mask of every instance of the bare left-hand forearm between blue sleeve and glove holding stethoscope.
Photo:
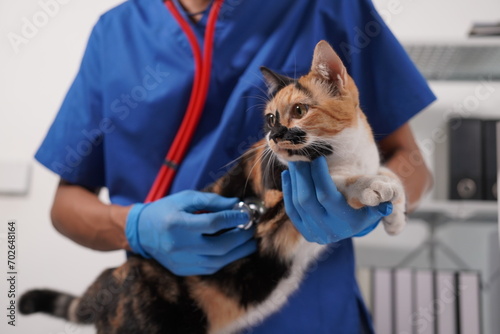
<svg viewBox="0 0 500 334">
<path fill-rule="evenodd" d="M 51 218 L 61 234 L 82 246 L 103 251 L 129 249 L 124 233 L 129 210 L 130 207 L 104 204 L 97 194 L 62 182 Z"/>
</svg>

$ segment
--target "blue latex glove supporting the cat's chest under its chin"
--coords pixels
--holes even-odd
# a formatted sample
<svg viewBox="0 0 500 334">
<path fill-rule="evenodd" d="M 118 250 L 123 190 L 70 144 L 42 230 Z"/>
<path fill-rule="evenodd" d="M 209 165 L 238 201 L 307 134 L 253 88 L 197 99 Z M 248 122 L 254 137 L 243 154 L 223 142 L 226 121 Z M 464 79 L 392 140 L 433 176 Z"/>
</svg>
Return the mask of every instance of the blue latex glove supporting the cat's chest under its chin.
<svg viewBox="0 0 500 334">
<path fill-rule="evenodd" d="M 319 244 L 362 236 L 392 212 L 392 203 L 353 209 L 337 190 L 324 157 L 289 162 L 281 175 L 285 210 L 307 241 Z"/>
</svg>

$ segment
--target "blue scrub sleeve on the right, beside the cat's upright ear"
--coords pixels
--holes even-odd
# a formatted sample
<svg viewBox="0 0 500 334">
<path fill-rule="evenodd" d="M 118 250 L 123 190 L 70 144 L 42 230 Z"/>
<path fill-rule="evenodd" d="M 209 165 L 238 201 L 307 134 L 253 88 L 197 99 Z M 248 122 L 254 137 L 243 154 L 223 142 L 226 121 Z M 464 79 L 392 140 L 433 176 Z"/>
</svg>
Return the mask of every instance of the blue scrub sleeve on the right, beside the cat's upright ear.
<svg viewBox="0 0 500 334">
<path fill-rule="evenodd" d="M 336 47 L 360 91 L 377 140 L 397 130 L 436 97 L 370 0 L 351 0 L 344 40 Z"/>
</svg>

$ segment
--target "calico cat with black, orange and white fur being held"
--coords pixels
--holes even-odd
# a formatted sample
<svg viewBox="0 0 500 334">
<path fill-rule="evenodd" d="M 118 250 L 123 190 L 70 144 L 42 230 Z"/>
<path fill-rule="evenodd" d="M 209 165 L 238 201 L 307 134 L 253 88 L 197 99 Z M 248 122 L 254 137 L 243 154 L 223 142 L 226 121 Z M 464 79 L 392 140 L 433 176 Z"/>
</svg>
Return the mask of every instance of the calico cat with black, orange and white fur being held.
<svg viewBox="0 0 500 334">
<path fill-rule="evenodd" d="M 289 161 L 326 156 L 338 189 L 355 209 L 392 201 L 383 219 L 396 234 L 406 222 L 398 177 L 380 166 L 358 90 L 327 42 L 311 71 L 292 79 L 261 68 L 269 88 L 266 136 L 204 189 L 256 197 L 267 211 L 255 232 L 258 251 L 208 276 L 179 277 L 156 261 L 130 257 L 104 271 L 81 297 L 51 290 L 23 295 L 23 314 L 45 312 L 97 327 L 98 333 L 237 333 L 282 307 L 326 246 L 307 242 L 284 209 L 281 172 Z"/>
</svg>

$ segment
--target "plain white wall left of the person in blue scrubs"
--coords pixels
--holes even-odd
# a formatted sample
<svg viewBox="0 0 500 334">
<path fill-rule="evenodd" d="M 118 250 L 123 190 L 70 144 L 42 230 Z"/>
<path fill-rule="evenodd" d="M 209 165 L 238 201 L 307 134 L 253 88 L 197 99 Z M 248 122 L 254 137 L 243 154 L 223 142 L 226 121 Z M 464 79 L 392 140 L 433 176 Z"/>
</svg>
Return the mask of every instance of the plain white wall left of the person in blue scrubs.
<svg viewBox="0 0 500 334">
<path fill-rule="evenodd" d="M 7 326 L 4 274 L 8 219 L 18 223 L 18 292 L 57 287 L 80 294 L 102 269 L 123 262 L 121 251 L 94 252 L 53 229 L 49 208 L 57 178 L 32 159 L 76 74 L 92 26 L 100 14 L 120 2 L 60 0 L 53 17 L 47 16 L 47 24 L 16 52 L 8 34 L 22 35 L 24 18 L 33 22 L 34 15 L 42 15 L 38 19 L 43 23 L 42 7 L 38 0 L 0 1 L 0 163 L 33 165 L 28 196 L 0 195 L 0 308 L 4 310 L 0 333 L 93 333 L 91 328 L 38 315 L 18 316 L 15 329 Z"/>
</svg>

